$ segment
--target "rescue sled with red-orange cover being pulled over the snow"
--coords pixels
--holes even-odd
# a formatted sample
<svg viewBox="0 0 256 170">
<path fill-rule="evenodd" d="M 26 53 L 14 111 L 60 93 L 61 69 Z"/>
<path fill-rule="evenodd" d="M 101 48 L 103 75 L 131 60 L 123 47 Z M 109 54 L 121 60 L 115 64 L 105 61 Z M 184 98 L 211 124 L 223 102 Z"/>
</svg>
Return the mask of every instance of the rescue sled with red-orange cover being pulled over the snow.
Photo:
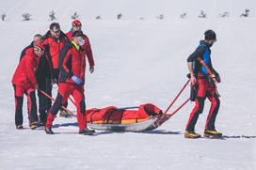
<svg viewBox="0 0 256 170">
<path fill-rule="evenodd" d="M 100 131 L 150 131 L 156 129 L 161 109 L 151 103 L 142 104 L 137 110 L 115 106 L 87 110 L 88 127 Z"/>
</svg>

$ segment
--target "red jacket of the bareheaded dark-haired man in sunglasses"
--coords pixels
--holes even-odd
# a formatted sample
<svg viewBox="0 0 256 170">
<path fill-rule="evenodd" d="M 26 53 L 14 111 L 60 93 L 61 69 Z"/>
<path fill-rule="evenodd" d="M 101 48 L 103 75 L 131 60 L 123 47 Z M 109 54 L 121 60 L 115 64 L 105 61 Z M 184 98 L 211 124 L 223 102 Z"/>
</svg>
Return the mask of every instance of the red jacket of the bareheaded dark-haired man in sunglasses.
<svg viewBox="0 0 256 170">
<path fill-rule="evenodd" d="M 59 51 L 64 47 L 65 43 L 69 41 L 67 36 L 60 32 L 59 39 L 54 39 L 48 31 L 44 38 L 45 53 L 48 54 L 52 60 L 53 69 L 58 68 L 58 54 Z"/>
</svg>

